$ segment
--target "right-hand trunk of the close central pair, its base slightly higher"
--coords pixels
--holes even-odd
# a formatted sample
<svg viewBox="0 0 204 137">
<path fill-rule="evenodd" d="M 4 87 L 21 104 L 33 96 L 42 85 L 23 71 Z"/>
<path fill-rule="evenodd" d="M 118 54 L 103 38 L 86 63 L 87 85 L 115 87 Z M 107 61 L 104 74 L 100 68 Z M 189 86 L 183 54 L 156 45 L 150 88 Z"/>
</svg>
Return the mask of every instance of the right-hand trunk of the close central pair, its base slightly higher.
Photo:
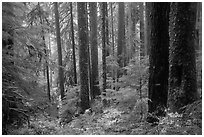
<svg viewBox="0 0 204 137">
<path fill-rule="evenodd" d="M 100 95 L 98 73 L 98 43 L 97 43 L 97 3 L 90 2 L 90 37 L 91 37 L 91 72 L 93 84 L 93 99 Z"/>
</svg>

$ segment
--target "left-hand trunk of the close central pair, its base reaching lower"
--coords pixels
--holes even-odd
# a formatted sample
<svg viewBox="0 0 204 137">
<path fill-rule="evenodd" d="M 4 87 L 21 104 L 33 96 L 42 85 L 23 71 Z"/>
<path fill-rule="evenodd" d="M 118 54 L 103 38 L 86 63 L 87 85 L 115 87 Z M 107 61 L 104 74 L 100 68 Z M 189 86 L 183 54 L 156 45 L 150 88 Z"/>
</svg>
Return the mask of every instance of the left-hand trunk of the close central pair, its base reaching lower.
<svg viewBox="0 0 204 137">
<path fill-rule="evenodd" d="M 88 81 L 88 32 L 86 3 L 77 3 L 78 12 L 78 33 L 79 33 L 79 73 L 80 73 L 80 107 L 82 113 L 88 108 L 89 104 L 89 81 Z"/>
</svg>

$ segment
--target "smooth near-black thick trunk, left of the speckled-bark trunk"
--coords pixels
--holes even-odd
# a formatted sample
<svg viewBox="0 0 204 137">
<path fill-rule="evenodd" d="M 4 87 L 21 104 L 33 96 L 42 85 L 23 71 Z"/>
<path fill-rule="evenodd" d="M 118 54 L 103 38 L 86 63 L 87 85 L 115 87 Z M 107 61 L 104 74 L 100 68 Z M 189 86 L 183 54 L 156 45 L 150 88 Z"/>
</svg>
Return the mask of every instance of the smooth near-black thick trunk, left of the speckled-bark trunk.
<svg viewBox="0 0 204 137">
<path fill-rule="evenodd" d="M 149 3 L 150 4 L 150 3 Z M 169 7 L 170 3 L 151 3 L 149 27 L 150 68 L 148 112 L 162 116 L 167 107 L 169 73 Z"/>
</svg>

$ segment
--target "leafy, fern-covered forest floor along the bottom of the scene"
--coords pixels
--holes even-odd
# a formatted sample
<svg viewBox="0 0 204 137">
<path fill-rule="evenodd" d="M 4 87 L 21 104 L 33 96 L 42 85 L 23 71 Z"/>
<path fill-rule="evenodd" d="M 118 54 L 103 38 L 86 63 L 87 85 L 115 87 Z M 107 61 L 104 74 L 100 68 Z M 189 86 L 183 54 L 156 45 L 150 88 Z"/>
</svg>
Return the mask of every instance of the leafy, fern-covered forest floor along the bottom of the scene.
<svg viewBox="0 0 204 137">
<path fill-rule="evenodd" d="M 167 113 L 159 123 L 146 122 L 146 100 L 138 101 L 134 90 L 118 91 L 102 111 L 87 112 L 60 124 L 56 114 L 46 112 L 30 119 L 30 125 L 9 134 L 23 135 L 201 135 L 202 101 L 188 106 L 183 115 Z M 56 113 L 55 109 L 50 109 Z"/>
</svg>

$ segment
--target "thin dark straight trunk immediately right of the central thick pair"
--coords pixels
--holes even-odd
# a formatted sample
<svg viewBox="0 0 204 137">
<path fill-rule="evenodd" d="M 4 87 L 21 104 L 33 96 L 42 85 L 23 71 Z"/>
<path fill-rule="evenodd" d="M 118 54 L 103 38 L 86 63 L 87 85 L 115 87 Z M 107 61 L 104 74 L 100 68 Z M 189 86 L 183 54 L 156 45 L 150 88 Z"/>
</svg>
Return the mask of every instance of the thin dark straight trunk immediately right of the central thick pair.
<svg viewBox="0 0 204 137">
<path fill-rule="evenodd" d="M 102 94 L 106 95 L 106 2 L 102 3 L 102 75 L 103 75 L 103 86 Z"/>
</svg>

